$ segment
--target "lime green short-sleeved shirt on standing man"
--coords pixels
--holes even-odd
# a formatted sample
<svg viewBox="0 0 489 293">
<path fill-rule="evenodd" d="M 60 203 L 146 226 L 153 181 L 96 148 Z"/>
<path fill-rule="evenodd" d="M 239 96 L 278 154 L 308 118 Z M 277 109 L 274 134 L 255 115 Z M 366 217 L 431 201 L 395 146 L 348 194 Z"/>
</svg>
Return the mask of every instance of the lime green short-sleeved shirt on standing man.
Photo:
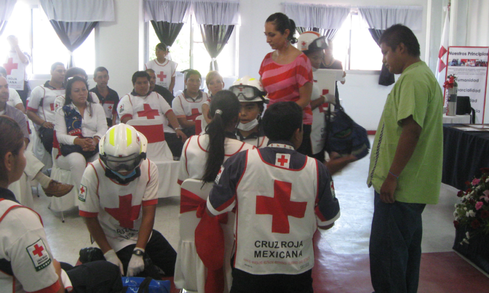
<svg viewBox="0 0 489 293">
<path fill-rule="evenodd" d="M 411 159 L 399 175 L 394 197 L 405 203 L 438 202 L 443 164 L 442 109 L 442 89 L 426 63 L 421 61 L 407 67 L 387 96 L 380 117 L 370 155 L 369 186 L 380 191 L 396 154 L 402 131 L 400 122 L 412 115 L 422 127 L 421 135 Z"/>
</svg>

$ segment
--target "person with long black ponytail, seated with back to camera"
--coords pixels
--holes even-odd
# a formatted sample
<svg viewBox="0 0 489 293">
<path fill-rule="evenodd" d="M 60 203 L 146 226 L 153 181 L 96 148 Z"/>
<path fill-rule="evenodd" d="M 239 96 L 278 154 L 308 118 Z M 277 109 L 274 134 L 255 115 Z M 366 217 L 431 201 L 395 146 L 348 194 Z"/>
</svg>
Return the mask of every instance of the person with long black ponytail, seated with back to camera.
<svg viewBox="0 0 489 293">
<path fill-rule="evenodd" d="M 214 95 L 209 109 L 212 120 L 205 127 L 205 134 L 191 136 L 183 146 L 179 184 L 189 178 L 213 182 L 226 159 L 254 148 L 237 140 L 233 133 L 240 122 L 240 108 L 240 101 L 233 92 L 221 90 Z"/>
</svg>

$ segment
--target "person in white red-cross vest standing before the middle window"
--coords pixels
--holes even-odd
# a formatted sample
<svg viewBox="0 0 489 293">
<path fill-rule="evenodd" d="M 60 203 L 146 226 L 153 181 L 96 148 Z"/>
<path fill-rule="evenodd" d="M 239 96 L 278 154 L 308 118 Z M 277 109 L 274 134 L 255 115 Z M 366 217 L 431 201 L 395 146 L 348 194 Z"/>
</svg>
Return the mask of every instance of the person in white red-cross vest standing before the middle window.
<svg viewBox="0 0 489 293">
<path fill-rule="evenodd" d="M 153 59 L 144 65 L 144 69 L 153 69 L 156 72 L 156 84 L 166 87 L 173 93 L 175 87 L 175 78 L 177 77 L 177 65 L 167 58 L 168 47 L 165 43 L 159 43 L 156 45 L 155 54 L 156 59 Z"/>
</svg>

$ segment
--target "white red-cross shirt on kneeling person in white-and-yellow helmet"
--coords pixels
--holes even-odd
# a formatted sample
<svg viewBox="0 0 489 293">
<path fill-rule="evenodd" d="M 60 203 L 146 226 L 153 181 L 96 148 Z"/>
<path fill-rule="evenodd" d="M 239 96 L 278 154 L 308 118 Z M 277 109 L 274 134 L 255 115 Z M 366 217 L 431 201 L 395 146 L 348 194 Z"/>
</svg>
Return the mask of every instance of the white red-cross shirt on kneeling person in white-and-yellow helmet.
<svg viewBox="0 0 489 293">
<path fill-rule="evenodd" d="M 142 219 L 142 207 L 158 203 L 158 169 L 143 160 L 141 175 L 122 185 L 105 176 L 100 159 L 89 163 L 78 194 L 80 215 L 97 217 L 114 251 L 135 244 Z"/>
</svg>

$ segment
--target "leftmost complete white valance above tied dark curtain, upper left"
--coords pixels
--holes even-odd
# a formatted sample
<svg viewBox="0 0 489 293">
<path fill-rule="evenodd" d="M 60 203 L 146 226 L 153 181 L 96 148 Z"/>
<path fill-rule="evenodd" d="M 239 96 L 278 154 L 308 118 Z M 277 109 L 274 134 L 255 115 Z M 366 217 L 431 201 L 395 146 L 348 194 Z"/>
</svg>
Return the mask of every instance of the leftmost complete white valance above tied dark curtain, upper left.
<svg viewBox="0 0 489 293">
<path fill-rule="evenodd" d="M 39 0 L 49 20 L 115 21 L 114 0 Z"/>
</svg>

